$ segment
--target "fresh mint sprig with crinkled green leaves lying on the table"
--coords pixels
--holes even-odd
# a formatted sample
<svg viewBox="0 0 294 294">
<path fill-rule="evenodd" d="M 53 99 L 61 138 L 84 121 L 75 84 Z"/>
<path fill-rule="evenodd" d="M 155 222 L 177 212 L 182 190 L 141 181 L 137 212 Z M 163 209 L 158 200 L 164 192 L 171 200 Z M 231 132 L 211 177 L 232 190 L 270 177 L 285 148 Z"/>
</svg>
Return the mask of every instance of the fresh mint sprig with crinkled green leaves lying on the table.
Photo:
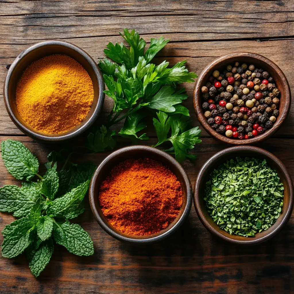
<svg viewBox="0 0 294 294">
<path fill-rule="evenodd" d="M 0 188 L 0 211 L 18 217 L 2 230 L 2 256 L 13 258 L 26 250 L 29 268 L 36 277 L 49 263 L 53 239 L 79 256 L 93 255 L 93 241 L 79 225 L 69 222 L 84 211 L 83 198 L 96 168 L 93 164 L 70 164 L 57 171 L 54 153 L 48 156 L 47 171 L 38 174 L 38 159 L 22 143 L 1 142 L 4 164 L 21 187 Z M 64 163 L 68 162 L 68 158 Z M 40 180 L 31 181 L 34 176 Z"/>
</svg>

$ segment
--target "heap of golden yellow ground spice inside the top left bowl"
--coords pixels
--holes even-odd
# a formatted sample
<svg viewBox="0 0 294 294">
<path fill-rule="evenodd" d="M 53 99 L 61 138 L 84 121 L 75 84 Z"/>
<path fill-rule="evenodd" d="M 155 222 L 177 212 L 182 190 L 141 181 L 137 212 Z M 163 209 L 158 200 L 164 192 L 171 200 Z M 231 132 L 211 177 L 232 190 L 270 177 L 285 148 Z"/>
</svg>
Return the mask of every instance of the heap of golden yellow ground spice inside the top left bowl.
<svg viewBox="0 0 294 294">
<path fill-rule="evenodd" d="M 50 55 L 30 64 L 16 88 L 21 118 L 46 134 L 59 134 L 80 124 L 93 103 L 87 71 L 66 55 Z"/>
</svg>

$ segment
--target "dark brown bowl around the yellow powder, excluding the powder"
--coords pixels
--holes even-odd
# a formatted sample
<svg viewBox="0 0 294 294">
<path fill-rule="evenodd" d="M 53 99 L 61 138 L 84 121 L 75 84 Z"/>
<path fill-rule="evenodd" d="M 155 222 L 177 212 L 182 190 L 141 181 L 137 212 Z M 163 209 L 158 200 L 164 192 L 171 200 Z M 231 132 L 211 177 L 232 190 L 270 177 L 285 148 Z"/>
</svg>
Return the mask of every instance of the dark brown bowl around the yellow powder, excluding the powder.
<svg viewBox="0 0 294 294">
<path fill-rule="evenodd" d="M 16 86 L 24 70 L 32 62 L 51 54 L 64 54 L 75 59 L 88 72 L 93 82 L 94 100 L 86 118 L 75 128 L 61 134 L 45 134 L 28 126 L 19 116 L 16 108 Z M 4 102 L 15 125 L 26 135 L 39 141 L 57 142 L 74 138 L 89 128 L 96 120 L 104 101 L 105 90 L 102 74 L 95 61 L 81 48 L 61 41 L 46 41 L 24 50 L 11 64 L 4 82 Z"/>
</svg>

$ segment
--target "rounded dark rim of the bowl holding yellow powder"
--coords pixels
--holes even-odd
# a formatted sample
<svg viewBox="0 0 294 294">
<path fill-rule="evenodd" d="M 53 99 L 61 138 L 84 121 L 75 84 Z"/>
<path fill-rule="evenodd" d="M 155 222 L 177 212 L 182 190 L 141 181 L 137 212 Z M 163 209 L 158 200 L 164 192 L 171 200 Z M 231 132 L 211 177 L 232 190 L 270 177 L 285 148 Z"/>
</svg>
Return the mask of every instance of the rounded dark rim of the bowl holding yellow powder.
<svg viewBox="0 0 294 294">
<path fill-rule="evenodd" d="M 14 72 L 14 70 L 16 69 L 17 64 L 19 63 L 19 61 L 21 59 L 24 58 L 24 56 L 30 54 L 31 52 L 33 52 L 34 50 L 40 48 L 40 47 L 45 47 L 45 46 L 52 46 L 52 45 L 57 45 L 57 46 L 64 46 L 67 47 L 69 49 L 72 49 L 74 51 L 76 51 L 78 54 L 80 54 L 88 63 L 89 65 L 92 67 L 93 72 L 96 76 L 96 80 L 98 81 L 98 87 L 99 87 L 99 95 L 98 95 L 98 101 L 97 101 L 97 105 L 92 113 L 92 115 L 86 120 L 86 122 L 78 127 L 74 130 L 74 131 L 69 131 L 70 133 L 66 133 L 65 135 L 59 135 L 59 136 L 54 136 L 52 134 L 48 134 L 46 135 L 45 133 L 36 133 L 32 130 L 30 130 L 29 128 L 27 128 L 23 123 L 21 123 L 18 118 L 15 116 L 14 111 L 11 108 L 11 104 L 9 101 L 9 83 L 11 80 L 11 76 Z M 54 54 L 54 53 L 52 53 Z M 66 54 L 65 54 L 66 55 Z M 44 42 L 40 42 L 37 44 L 34 44 L 32 46 L 30 46 L 29 48 L 25 49 L 24 51 L 22 51 L 12 62 L 11 66 L 8 69 L 7 75 L 5 77 L 4 80 L 4 87 L 3 87 L 3 97 L 4 97 L 4 103 L 6 106 L 6 110 L 11 118 L 11 120 L 14 122 L 14 124 L 27 136 L 40 140 L 40 141 L 46 141 L 46 142 L 58 142 L 58 141 L 65 141 L 65 140 L 69 140 L 71 138 L 74 138 L 78 135 L 80 135 L 81 133 L 83 133 L 84 131 L 86 131 L 86 129 L 88 129 L 96 120 L 98 114 L 101 111 L 101 108 L 103 106 L 103 102 L 104 102 L 104 91 L 105 90 L 105 84 L 104 84 L 104 80 L 101 74 L 100 69 L 98 68 L 96 62 L 94 61 L 94 59 L 83 49 L 81 49 L 80 47 L 69 43 L 69 42 L 64 42 L 64 41 L 57 41 L 57 40 L 51 40 L 51 41 L 44 41 Z"/>
</svg>

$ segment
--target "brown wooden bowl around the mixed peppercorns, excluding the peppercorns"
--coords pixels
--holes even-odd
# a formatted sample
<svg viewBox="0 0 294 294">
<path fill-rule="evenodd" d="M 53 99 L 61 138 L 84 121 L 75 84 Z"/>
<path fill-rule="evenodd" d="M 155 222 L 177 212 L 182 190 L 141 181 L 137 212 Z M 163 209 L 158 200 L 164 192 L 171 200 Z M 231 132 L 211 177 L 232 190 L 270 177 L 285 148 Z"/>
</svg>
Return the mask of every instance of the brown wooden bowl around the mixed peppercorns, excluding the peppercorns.
<svg viewBox="0 0 294 294">
<path fill-rule="evenodd" d="M 211 128 L 211 126 L 207 122 L 207 119 L 205 118 L 202 109 L 203 101 L 201 97 L 201 87 L 205 86 L 205 83 L 208 81 L 208 78 L 212 75 L 213 71 L 222 71 L 226 68 L 228 64 L 234 64 L 236 61 L 238 61 L 240 64 L 246 63 L 248 64 L 248 66 L 250 64 L 253 64 L 256 67 L 260 67 L 263 68 L 265 71 L 268 71 L 270 76 L 274 78 L 277 88 L 280 90 L 280 114 L 276 122 L 273 124 L 273 127 L 259 136 L 245 140 L 231 139 L 222 134 L 217 133 L 213 128 Z M 194 88 L 193 95 L 194 108 L 201 125 L 206 129 L 208 133 L 211 134 L 211 136 L 216 137 L 220 141 L 233 145 L 253 145 L 269 138 L 276 131 L 278 131 L 278 128 L 280 128 L 281 124 L 285 121 L 291 106 L 290 86 L 287 81 L 287 78 L 280 70 L 280 68 L 275 63 L 273 63 L 273 61 L 265 58 L 264 56 L 247 52 L 237 52 L 228 54 L 216 59 L 211 64 L 209 64 L 199 76 Z"/>
</svg>

